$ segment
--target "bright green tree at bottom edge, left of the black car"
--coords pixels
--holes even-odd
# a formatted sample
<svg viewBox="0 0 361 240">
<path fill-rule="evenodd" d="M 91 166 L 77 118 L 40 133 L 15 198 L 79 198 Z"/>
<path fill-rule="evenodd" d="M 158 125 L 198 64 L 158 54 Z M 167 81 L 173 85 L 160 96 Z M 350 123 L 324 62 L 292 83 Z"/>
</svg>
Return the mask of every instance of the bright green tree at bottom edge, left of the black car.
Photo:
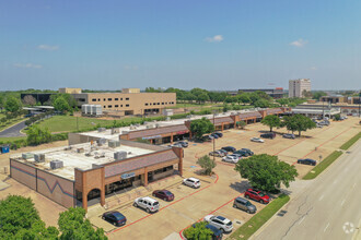
<svg viewBox="0 0 361 240">
<path fill-rule="evenodd" d="M 85 209 L 82 207 L 70 207 L 68 211 L 60 213 L 58 219 L 60 239 L 86 239 L 86 240 L 105 240 L 103 228 L 94 230 L 89 219 L 85 219 Z"/>
</svg>

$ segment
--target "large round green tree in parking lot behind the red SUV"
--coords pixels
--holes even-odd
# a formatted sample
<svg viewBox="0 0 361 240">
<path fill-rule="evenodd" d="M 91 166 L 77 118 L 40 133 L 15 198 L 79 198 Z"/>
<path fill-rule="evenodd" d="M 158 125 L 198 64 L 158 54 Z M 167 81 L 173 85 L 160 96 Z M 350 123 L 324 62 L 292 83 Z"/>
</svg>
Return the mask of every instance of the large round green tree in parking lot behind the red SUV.
<svg viewBox="0 0 361 240">
<path fill-rule="evenodd" d="M 276 191 L 281 183 L 289 188 L 290 182 L 299 175 L 295 167 L 267 154 L 254 155 L 240 160 L 235 170 L 249 181 L 253 188 L 264 191 Z"/>
</svg>

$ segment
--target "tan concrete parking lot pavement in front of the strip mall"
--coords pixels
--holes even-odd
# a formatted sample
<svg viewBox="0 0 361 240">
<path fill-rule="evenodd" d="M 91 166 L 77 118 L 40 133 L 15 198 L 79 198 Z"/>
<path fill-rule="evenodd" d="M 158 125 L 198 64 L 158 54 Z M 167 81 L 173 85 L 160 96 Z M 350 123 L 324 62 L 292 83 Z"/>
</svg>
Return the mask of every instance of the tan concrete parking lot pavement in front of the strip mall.
<svg viewBox="0 0 361 240">
<path fill-rule="evenodd" d="M 259 136 L 260 131 L 267 131 L 267 127 L 249 124 L 245 130 L 226 130 L 224 136 L 216 140 L 216 148 L 222 146 L 234 146 L 235 148 L 251 148 L 255 154 L 267 153 L 277 155 L 281 160 L 294 164 L 301 179 L 312 166 L 295 164 L 299 158 L 313 158 L 322 160 L 333 151 L 337 149 L 343 142 L 360 131 L 357 125 L 358 119 L 350 118 L 341 122 L 331 122 L 329 127 L 317 128 L 302 133 L 301 139 L 282 139 L 279 134 L 273 140 L 265 140 L 265 143 L 251 142 L 253 136 Z M 287 133 L 286 129 L 275 130 L 279 133 Z M 179 239 L 179 232 L 208 214 L 221 215 L 238 227 L 248 220 L 253 215 L 233 208 L 233 200 L 247 189 L 247 183 L 241 179 L 240 173 L 234 171 L 234 165 L 222 163 L 217 158 L 218 166 L 214 168 L 217 176 L 198 176 L 200 169 L 196 165 L 198 157 L 201 157 L 213 149 L 212 143 L 189 143 L 185 148 L 184 177 L 196 177 L 201 180 L 200 189 L 191 189 L 180 184 L 180 180 L 168 190 L 175 194 L 171 203 L 160 200 L 160 212 L 148 214 L 133 207 L 132 202 L 116 207 L 126 215 L 127 225 L 114 227 L 101 219 L 101 214 L 91 217 L 92 224 L 103 227 L 109 239 L 123 239 L 131 236 L 132 239 Z M 319 158 L 319 156 L 322 156 Z M 155 190 L 155 189 L 154 189 Z M 151 193 L 151 192 L 150 192 Z M 257 209 L 265 205 L 252 201 Z M 226 237 L 228 235 L 225 235 Z"/>
</svg>

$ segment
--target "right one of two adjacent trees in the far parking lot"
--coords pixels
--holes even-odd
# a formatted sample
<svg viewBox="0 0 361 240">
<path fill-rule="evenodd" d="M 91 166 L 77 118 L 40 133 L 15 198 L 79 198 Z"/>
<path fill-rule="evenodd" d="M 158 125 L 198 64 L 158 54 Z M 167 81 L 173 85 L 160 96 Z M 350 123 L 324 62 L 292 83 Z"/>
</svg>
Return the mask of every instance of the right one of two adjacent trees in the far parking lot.
<svg viewBox="0 0 361 240">
<path fill-rule="evenodd" d="M 303 115 L 293 115 L 291 117 L 286 117 L 283 118 L 283 122 L 281 123 L 281 125 L 286 127 L 292 132 L 298 131 L 299 136 L 301 136 L 301 132 L 316 128 L 316 123 Z"/>
</svg>

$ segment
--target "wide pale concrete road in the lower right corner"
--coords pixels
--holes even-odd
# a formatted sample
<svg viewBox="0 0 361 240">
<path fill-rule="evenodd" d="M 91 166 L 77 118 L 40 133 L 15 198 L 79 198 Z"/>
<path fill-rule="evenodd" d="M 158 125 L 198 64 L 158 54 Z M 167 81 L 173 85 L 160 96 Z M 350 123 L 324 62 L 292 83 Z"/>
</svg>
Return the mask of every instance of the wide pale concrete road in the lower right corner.
<svg viewBox="0 0 361 240">
<path fill-rule="evenodd" d="M 361 141 L 252 239 L 352 239 L 361 223 Z M 361 239 L 360 232 L 353 239 Z"/>
</svg>

